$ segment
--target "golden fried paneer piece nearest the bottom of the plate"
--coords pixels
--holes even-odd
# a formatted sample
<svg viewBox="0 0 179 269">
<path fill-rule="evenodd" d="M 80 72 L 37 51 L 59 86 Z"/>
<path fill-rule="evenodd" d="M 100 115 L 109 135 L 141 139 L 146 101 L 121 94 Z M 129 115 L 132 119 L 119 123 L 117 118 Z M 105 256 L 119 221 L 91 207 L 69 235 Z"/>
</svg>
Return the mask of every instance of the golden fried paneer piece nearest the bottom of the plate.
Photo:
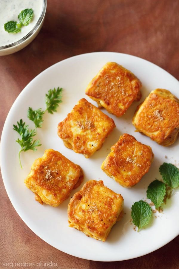
<svg viewBox="0 0 179 269">
<path fill-rule="evenodd" d="M 87 236 L 105 241 L 123 215 L 123 197 L 104 186 L 103 181 L 87 181 L 68 205 L 69 226 Z"/>
</svg>

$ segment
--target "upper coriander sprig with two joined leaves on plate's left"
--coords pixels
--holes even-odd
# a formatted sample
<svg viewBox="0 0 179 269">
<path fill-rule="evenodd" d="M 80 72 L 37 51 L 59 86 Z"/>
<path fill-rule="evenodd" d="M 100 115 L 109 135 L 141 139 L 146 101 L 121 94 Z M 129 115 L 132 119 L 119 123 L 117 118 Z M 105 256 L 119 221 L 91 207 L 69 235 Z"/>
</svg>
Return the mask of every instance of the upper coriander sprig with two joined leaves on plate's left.
<svg viewBox="0 0 179 269">
<path fill-rule="evenodd" d="M 60 103 L 62 103 L 62 88 L 50 89 L 47 94 L 45 94 L 46 109 L 43 111 L 41 108 L 33 110 L 29 107 L 27 111 L 27 117 L 35 123 L 36 129 L 42 127 L 43 114 L 48 111 L 48 113 L 53 114 L 57 111 Z"/>
</svg>

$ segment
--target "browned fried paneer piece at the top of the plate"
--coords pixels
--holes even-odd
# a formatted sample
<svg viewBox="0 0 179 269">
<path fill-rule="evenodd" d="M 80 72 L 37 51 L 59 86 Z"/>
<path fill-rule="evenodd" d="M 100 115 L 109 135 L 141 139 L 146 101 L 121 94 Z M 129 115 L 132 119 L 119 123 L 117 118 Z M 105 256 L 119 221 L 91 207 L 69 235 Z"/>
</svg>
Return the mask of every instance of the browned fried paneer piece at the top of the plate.
<svg viewBox="0 0 179 269">
<path fill-rule="evenodd" d="M 141 87 L 142 83 L 132 72 L 115 62 L 107 62 L 87 86 L 86 94 L 120 117 L 134 100 L 141 99 Z"/>
</svg>

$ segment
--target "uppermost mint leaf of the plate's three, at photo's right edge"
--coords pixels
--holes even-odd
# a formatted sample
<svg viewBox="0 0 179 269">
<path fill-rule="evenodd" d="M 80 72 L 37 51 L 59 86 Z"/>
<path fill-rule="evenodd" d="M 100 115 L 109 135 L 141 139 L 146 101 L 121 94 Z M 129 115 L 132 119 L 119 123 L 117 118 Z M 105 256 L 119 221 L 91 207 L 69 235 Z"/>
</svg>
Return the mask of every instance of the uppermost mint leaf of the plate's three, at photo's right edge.
<svg viewBox="0 0 179 269">
<path fill-rule="evenodd" d="M 163 163 L 159 167 L 159 172 L 162 175 L 163 181 L 171 188 L 179 186 L 179 170 L 171 163 Z"/>
</svg>

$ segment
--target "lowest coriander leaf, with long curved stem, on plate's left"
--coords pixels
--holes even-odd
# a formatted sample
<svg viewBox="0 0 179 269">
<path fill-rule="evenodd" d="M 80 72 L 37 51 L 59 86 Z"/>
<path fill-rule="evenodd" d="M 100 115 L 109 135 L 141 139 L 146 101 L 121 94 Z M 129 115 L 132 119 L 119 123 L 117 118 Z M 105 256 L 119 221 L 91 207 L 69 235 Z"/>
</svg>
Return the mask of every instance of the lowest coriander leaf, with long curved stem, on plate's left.
<svg viewBox="0 0 179 269">
<path fill-rule="evenodd" d="M 28 125 L 25 125 L 25 122 L 23 123 L 22 119 L 17 122 L 17 125 L 13 125 L 13 130 L 18 132 L 18 134 L 21 136 L 21 139 L 17 139 L 16 142 L 21 146 L 21 149 L 18 153 L 19 157 L 19 163 L 21 165 L 21 159 L 20 154 L 22 151 L 27 151 L 29 149 L 36 151 L 36 147 L 41 146 L 40 140 L 33 140 L 33 137 L 36 135 L 36 130 L 29 131 Z"/>
</svg>

